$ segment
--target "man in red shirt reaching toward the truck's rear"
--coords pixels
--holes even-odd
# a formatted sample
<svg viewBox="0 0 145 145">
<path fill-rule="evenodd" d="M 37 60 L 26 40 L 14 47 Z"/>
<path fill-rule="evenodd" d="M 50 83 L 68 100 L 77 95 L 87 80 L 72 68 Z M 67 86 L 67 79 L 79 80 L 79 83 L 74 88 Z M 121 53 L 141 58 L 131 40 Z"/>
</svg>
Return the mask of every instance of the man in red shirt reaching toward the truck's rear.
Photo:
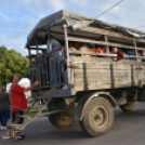
<svg viewBox="0 0 145 145">
<path fill-rule="evenodd" d="M 16 124 L 23 123 L 23 118 L 19 116 L 23 115 L 23 110 L 27 109 L 27 101 L 24 94 L 25 91 L 29 91 L 39 84 L 39 81 L 36 81 L 29 88 L 23 88 L 17 84 L 19 78 L 17 76 L 11 76 L 10 80 L 12 81 L 11 85 L 11 100 L 12 100 L 12 121 Z M 15 134 L 17 139 L 24 139 L 24 135 L 21 133 Z"/>
</svg>

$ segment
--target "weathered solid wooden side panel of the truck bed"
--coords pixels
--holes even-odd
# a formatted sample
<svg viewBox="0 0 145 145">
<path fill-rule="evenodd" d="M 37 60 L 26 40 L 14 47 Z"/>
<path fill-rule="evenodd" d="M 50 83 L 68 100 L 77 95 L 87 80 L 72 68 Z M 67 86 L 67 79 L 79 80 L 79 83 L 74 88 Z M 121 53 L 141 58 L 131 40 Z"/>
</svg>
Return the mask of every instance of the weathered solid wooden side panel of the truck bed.
<svg viewBox="0 0 145 145">
<path fill-rule="evenodd" d="M 75 91 L 137 87 L 140 80 L 145 83 L 143 64 L 72 63 L 72 65 L 76 66 Z"/>
</svg>

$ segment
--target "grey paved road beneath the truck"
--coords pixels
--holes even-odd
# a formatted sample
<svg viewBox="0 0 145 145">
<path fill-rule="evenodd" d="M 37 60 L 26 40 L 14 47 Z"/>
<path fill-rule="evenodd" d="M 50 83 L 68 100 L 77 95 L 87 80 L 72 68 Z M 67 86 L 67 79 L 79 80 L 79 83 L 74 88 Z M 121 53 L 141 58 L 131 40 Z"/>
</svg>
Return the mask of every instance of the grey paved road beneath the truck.
<svg viewBox="0 0 145 145">
<path fill-rule="evenodd" d="M 145 145 L 145 103 L 137 103 L 130 113 L 116 109 L 111 130 L 100 137 L 84 135 L 78 123 L 58 130 L 48 118 L 36 120 L 24 133 L 25 140 L 0 139 L 0 145 Z"/>
</svg>

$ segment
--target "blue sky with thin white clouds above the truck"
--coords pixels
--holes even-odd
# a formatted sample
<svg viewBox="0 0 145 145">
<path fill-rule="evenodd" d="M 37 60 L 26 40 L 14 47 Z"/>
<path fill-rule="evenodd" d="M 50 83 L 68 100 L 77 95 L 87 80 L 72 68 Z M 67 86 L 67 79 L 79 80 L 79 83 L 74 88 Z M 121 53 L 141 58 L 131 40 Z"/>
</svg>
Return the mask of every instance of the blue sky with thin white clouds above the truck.
<svg viewBox="0 0 145 145">
<path fill-rule="evenodd" d="M 27 55 L 27 35 L 40 18 L 62 9 L 95 17 L 119 0 L 0 0 L 0 45 Z M 128 27 L 145 25 L 145 1 L 124 0 L 98 19 Z M 145 27 L 140 28 L 145 31 Z"/>
</svg>

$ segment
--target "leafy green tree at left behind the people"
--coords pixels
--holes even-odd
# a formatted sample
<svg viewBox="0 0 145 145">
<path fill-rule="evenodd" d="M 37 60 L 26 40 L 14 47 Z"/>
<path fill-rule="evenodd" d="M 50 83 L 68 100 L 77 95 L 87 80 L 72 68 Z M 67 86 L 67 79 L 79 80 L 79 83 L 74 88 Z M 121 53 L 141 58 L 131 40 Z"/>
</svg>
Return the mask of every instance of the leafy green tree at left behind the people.
<svg viewBox="0 0 145 145">
<path fill-rule="evenodd" d="M 28 70 L 28 66 L 29 61 L 26 56 L 15 50 L 0 47 L 0 85 L 9 83 L 12 75 L 22 77 Z"/>
</svg>

